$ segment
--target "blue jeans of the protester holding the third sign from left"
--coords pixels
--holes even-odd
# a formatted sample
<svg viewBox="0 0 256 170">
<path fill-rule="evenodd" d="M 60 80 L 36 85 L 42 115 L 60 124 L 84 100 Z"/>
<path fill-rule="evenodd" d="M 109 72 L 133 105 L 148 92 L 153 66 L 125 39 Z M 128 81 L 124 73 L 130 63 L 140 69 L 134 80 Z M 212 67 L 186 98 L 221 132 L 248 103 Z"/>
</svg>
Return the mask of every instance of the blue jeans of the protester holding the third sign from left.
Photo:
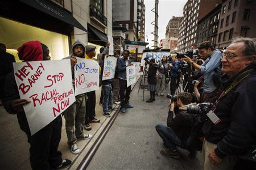
<svg viewBox="0 0 256 170">
<path fill-rule="evenodd" d="M 108 85 L 101 85 L 102 92 L 103 92 L 103 101 L 102 101 L 102 108 L 104 113 L 108 113 L 108 108 L 112 109 L 112 86 L 111 84 Z"/>
</svg>

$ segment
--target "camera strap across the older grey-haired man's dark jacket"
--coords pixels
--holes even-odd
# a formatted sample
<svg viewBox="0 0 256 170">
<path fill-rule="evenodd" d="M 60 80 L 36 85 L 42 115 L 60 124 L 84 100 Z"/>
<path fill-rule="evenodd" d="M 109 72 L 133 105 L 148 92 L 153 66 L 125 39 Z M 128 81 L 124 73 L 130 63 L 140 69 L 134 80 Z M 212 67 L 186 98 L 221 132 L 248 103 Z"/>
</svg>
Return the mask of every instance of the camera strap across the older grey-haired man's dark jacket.
<svg viewBox="0 0 256 170">
<path fill-rule="evenodd" d="M 250 73 L 252 73 L 253 71 L 254 71 L 254 69 L 244 71 L 242 74 L 238 75 L 236 79 L 233 80 L 233 82 L 230 84 L 230 86 L 228 88 L 226 88 L 226 90 L 221 92 L 220 97 L 218 97 L 218 99 L 213 104 L 213 107 L 212 107 L 213 112 L 216 109 L 216 106 L 217 106 L 218 102 L 220 101 L 220 99 L 222 97 L 226 96 L 234 87 L 237 86 L 237 84 L 242 82 L 242 80 L 246 79 L 250 75 Z"/>
</svg>

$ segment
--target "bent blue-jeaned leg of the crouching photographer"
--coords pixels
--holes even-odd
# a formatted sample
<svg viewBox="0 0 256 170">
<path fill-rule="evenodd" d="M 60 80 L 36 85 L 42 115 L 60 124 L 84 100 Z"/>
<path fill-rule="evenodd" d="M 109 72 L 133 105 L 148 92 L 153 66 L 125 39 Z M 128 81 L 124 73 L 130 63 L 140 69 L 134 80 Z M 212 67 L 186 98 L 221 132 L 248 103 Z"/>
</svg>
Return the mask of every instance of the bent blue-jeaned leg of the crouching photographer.
<svg viewBox="0 0 256 170">
<path fill-rule="evenodd" d="M 185 148 L 184 145 L 182 145 L 180 138 L 171 128 L 164 126 L 163 124 L 158 124 L 155 126 L 155 129 L 163 139 L 164 144 L 167 145 L 167 147 L 172 151 L 177 149 L 176 146 Z"/>
</svg>

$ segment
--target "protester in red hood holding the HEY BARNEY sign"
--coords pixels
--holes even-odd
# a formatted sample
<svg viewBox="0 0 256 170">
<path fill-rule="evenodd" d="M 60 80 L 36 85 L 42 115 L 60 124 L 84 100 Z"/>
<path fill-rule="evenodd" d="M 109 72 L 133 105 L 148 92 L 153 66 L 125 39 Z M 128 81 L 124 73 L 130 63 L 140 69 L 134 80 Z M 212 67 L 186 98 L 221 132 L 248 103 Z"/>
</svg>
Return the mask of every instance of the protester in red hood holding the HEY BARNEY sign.
<svg viewBox="0 0 256 170">
<path fill-rule="evenodd" d="M 48 60 L 47 46 L 40 44 L 39 41 L 28 41 L 18 48 L 18 56 L 23 61 L 42 61 Z M 47 48 L 47 49 L 46 49 Z M 27 68 L 23 69 L 26 71 Z M 26 72 L 28 74 L 28 72 Z M 41 72 L 42 73 L 42 72 Z M 61 116 L 50 122 L 43 129 L 31 135 L 30 127 L 23 106 L 30 103 L 30 100 L 20 99 L 19 90 L 15 82 L 14 72 L 6 76 L 4 107 L 8 113 L 16 114 L 20 129 L 24 131 L 30 143 L 30 164 L 32 169 L 53 169 L 69 167 L 71 160 L 62 159 L 58 146 L 61 138 Z"/>
</svg>

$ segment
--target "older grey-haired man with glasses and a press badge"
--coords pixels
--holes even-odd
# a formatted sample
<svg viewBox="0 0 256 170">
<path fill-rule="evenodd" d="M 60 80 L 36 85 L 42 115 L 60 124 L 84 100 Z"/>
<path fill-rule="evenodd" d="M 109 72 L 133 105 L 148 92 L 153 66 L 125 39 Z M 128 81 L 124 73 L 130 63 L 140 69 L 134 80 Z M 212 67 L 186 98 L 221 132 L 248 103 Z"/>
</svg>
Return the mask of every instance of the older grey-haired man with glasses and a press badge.
<svg viewBox="0 0 256 170">
<path fill-rule="evenodd" d="M 237 38 L 224 50 L 225 74 L 203 127 L 203 169 L 256 168 L 255 59 L 256 41 L 250 38 Z"/>
</svg>

